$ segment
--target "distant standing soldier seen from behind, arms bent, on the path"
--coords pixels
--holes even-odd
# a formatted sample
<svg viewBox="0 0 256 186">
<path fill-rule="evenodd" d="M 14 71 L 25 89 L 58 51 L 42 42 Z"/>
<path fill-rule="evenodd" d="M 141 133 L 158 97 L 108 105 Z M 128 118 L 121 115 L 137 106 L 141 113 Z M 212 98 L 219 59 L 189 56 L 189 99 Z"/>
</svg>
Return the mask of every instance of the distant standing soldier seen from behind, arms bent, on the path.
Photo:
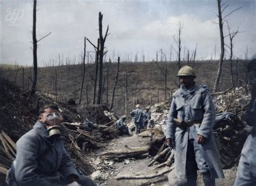
<svg viewBox="0 0 256 186">
<path fill-rule="evenodd" d="M 130 115 L 132 116 L 132 121 L 134 122 L 135 134 L 138 134 L 138 132 L 140 132 L 140 129 L 143 128 L 143 119 L 144 119 L 144 113 L 142 109 L 140 109 L 139 104 L 136 105 L 136 109 L 130 112 Z"/>
</svg>

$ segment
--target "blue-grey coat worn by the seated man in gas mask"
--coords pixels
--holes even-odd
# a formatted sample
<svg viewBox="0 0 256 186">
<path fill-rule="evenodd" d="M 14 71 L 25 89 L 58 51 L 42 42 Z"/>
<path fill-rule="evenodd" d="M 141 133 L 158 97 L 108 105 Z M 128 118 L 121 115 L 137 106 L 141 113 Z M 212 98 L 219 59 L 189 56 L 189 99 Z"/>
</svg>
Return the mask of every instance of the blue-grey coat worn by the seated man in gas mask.
<svg viewBox="0 0 256 186">
<path fill-rule="evenodd" d="M 52 145 L 49 153 L 38 161 L 37 158 Z M 68 183 L 69 175 L 79 177 L 62 139 L 58 137 L 54 142 L 50 141 L 44 124 L 39 121 L 17 141 L 16 147 L 16 159 L 6 177 L 6 182 L 11 186 L 64 185 Z"/>
</svg>

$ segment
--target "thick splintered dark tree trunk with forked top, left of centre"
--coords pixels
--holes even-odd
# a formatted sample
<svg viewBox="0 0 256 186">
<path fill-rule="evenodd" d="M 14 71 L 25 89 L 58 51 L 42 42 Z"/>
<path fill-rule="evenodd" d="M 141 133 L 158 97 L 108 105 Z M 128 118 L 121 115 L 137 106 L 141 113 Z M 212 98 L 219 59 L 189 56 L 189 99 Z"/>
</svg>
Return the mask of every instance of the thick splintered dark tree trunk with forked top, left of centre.
<svg viewBox="0 0 256 186">
<path fill-rule="evenodd" d="M 98 83 L 98 94 L 97 94 L 97 104 L 100 104 L 102 98 L 102 80 L 103 80 L 103 56 L 104 56 L 104 44 L 107 37 L 107 32 L 109 31 L 109 25 L 107 25 L 107 30 L 105 37 L 102 35 L 102 19 L 103 15 L 99 12 L 99 83 Z"/>
</svg>

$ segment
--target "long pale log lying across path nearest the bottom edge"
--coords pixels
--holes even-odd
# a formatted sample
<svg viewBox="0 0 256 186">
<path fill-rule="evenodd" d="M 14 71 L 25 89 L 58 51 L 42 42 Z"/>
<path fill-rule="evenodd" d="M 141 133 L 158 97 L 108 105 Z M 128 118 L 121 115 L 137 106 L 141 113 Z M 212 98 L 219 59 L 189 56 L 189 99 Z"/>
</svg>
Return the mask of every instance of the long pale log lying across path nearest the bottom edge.
<svg viewBox="0 0 256 186">
<path fill-rule="evenodd" d="M 170 171 L 172 171 L 174 169 L 174 166 L 172 167 L 168 167 L 168 168 L 165 168 L 161 171 L 156 171 L 155 173 L 153 174 L 146 174 L 146 175 L 142 175 L 140 173 L 133 173 L 133 174 L 127 174 L 127 175 L 123 175 L 123 176 L 117 176 L 116 177 L 116 180 L 131 180 L 131 179 L 151 179 L 151 178 L 154 178 L 154 177 L 158 177 L 158 176 L 162 176 L 166 173 L 169 173 Z M 145 173 L 144 173 L 145 174 Z"/>
</svg>

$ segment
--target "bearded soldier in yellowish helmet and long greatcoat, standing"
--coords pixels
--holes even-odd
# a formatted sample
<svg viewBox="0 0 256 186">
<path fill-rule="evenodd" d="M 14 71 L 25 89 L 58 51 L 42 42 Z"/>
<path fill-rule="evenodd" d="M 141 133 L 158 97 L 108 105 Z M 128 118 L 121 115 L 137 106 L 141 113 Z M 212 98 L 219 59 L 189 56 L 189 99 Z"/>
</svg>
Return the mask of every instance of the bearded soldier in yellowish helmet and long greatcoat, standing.
<svg viewBox="0 0 256 186">
<path fill-rule="evenodd" d="M 199 169 L 205 185 L 215 185 L 215 178 L 224 174 L 213 136 L 215 108 L 210 91 L 194 82 L 190 66 L 180 68 L 177 76 L 181 86 L 173 94 L 166 129 L 166 142 L 174 148 L 175 175 L 185 178 L 186 185 L 196 185 Z"/>
</svg>

